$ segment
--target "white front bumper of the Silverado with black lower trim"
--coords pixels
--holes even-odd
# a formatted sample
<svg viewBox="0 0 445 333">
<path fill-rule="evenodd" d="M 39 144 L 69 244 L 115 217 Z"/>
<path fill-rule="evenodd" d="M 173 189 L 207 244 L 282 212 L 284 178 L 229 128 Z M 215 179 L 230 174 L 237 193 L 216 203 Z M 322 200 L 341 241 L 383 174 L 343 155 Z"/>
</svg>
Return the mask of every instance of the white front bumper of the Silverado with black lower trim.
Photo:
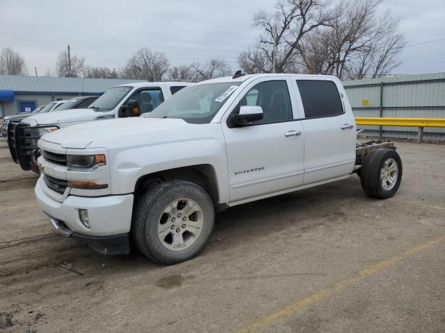
<svg viewBox="0 0 445 333">
<path fill-rule="evenodd" d="M 63 202 L 54 200 L 42 176 L 35 185 L 35 198 L 45 216 L 65 237 L 79 239 L 102 253 L 128 253 L 129 231 L 133 210 L 133 194 L 122 196 L 67 196 Z M 88 210 L 90 228 L 79 219 L 79 209 Z M 102 246 L 100 244 L 105 244 Z M 124 245 L 126 244 L 126 245 Z M 123 252 L 122 252 L 123 250 Z"/>
</svg>

